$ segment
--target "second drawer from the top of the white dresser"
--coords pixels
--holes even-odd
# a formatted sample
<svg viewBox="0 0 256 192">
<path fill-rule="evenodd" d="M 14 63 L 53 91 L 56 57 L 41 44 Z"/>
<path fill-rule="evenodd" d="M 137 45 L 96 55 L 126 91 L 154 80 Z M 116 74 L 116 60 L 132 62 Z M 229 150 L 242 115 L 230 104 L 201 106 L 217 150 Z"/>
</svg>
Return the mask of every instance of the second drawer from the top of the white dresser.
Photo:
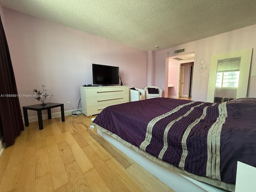
<svg viewBox="0 0 256 192">
<path fill-rule="evenodd" d="M 108 104 L 108 103 L 127 102 L 127 101 L 129 101 L 128 94 L 115 94 L 115 95 L 86 98 L 86 103 L 88 107 Z"/>
</svg>

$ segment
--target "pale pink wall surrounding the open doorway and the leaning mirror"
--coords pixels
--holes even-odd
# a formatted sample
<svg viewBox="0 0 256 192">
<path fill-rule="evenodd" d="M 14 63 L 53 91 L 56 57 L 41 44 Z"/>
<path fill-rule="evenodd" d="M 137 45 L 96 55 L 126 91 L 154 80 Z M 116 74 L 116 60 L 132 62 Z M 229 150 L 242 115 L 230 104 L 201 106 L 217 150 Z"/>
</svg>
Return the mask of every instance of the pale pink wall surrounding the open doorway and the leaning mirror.
<svg viewBox="0 0 256 192">
<path fill-rule="evenodd" d="M 192 100 L 206 101 L 208 90 L 208 76 L 210 70 L 210 58 L 212 54 L 231 52 L 234 50 L 243 50 L 248 48 L 256 48 L 256 25 L 248 26 L 231 32 L 226 32 L 202 40 L 182 44 L 180 46 L 168 48 L 156 52 L 156 86 L 164 89 L 163 96 L 167 97 L 168 92 L 166 79 L 166 65 L 168 66 L 169 56 L 166 52 L 173 53 L 174 50 L 186 48 L 186 53 L 194 52 L 194 76 L 192 86 Z M 202 60 L 205 68 L 201 69 Z M 251 72 L 256 62 L 256 54 L 252 54 Z M 256 76 L 250 76 L 248 85 L 248 97 L 256 97 Z"/>
</svg>

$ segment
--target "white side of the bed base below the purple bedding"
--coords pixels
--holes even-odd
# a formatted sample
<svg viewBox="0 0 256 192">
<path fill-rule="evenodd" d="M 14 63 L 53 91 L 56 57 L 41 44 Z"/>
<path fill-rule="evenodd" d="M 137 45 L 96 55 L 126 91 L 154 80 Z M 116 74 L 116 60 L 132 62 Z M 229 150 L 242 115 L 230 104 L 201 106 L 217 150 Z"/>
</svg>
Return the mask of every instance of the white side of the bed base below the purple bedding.
<svg viewBox="0 0 256 192">
<path fill-rule="evenodd" d="M 139 154 L 123 144 L 122 142 L 116 140 L 112 136 L 102 132 L 97 129 L 98 134 L 108 140 L 111 144 L 116 146 L 119 150 L 124 152 L 130 158 L 132 158 L 135 162 L 140 164 L 154 176 L 156 176 L 159 180 L 161 180 L 164 184 L 175 190 L 176 192 L 227 192 L 227 190 L 212 186 L 210 184 L 206 184 L 204 182 L 200 182 L 189 176 L 185 176 L 183 174 L 177 173 L 174 170 L 168 169 L 161 164 L 158 164 L 142 154 Z"/>
</svg>

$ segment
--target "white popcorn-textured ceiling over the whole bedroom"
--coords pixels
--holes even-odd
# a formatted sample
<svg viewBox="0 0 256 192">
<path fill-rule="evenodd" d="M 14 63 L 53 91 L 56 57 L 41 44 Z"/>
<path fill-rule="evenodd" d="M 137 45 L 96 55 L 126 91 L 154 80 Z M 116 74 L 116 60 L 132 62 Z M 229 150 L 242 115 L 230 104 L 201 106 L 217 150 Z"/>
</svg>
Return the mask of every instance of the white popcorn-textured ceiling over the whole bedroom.
<svg viewBox="0 0 256 192">
<path fill-rule="evenodd" d="M 19 12 L 147 51 L 163 50 L 256 24 L 255 0 L 0 2 Z"/>
</svg>

